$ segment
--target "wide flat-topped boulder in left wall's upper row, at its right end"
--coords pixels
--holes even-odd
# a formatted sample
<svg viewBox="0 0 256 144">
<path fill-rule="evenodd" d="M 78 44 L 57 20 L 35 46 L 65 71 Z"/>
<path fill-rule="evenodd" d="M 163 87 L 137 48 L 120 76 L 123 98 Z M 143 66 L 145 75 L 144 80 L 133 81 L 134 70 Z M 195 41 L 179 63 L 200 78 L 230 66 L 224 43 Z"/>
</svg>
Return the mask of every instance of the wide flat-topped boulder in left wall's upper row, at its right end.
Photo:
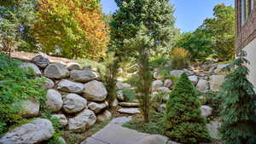
<svg viewBox="0 0 256 144">
<path fill-rule="evenodd" d="M 86 70 L 73 70 L 70 72 L 70 78 L 77 82 L 89 82 L 96 79 L 96 74 Z"/>
</svg>

